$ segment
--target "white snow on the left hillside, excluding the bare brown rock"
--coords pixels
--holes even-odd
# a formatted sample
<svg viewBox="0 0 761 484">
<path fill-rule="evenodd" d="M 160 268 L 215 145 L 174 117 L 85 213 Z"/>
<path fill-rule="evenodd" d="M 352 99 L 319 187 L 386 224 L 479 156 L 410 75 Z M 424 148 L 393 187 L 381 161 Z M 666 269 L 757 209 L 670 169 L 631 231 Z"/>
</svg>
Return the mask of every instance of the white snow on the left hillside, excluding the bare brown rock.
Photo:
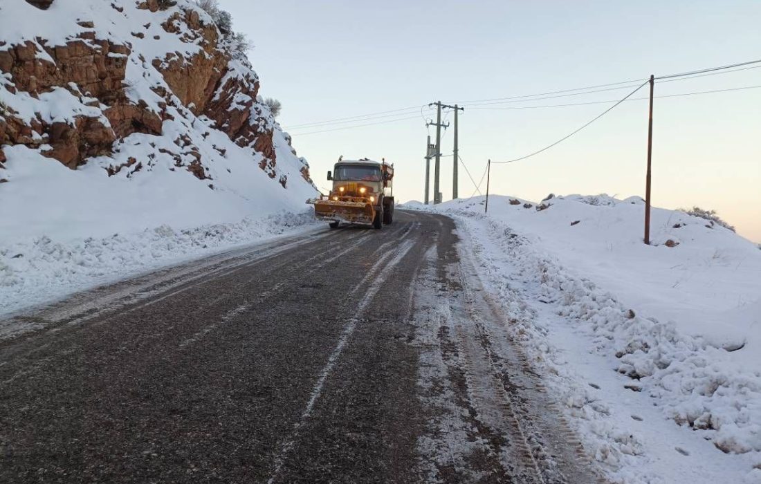
<svg viewBox="0 0 761 484">
<path fill-rule="evenodd" d="M 238 92 L 229 110 L 253 102 L 247 122 L 273 131 L 276 167 L 269 173 L 260 167 L 262 153 L 232 141 L 212 119 L 196 116 L 154 67 L 167 56 L 190 59 L 202 52 L 202 39 L 186 24 L 176 22 L 176 32 L 161 26 L 182 9 L 197 9 L 195 2 L 180 0 L 157 12 L 139 3 L 66 0 L 42 11 L 22 0 L 0 2 L 0 46 L 58 46 L 83 34 L 83 42 L 94 37 L 129 43 L 126 97 L 155 113 L 165 107 L 169 115 L 161 135 L 135 132 L 117 139 L 111 154 L 88 158 L 76 170 L 40 154 L 46 145 L 3 147 L 8 160 L 0 179 L 8 183 L 0 183 L 0 314 L 313 221 L 304 202 L 317 189 L 301 174 L 308 165 L 263 103 Z M 212 22 L 205 12 L 199 15 Z M 226 48 L 222 43 L 220 49 Z M 51 60 L 41 47 L 37 56 Z M 220 86 L 230 78 L 248 87 L 258 80 L 245 59 L 231 59 L 227 69 Z M 0 106 L 25 123 L 90 116 L 110 126 L 106 107 L 73 83 L 38 97 L 12 84 L 11 75 L 0 73 Z M 224 94 L 221 89 L 215 96 Z M 170 93 L 168 103 L 157 94 L 162 91 Z M 197 159 L 205 180 L 186 168 Z M 109 176 L 107 169 L 119 166 Z"/>
</svg>

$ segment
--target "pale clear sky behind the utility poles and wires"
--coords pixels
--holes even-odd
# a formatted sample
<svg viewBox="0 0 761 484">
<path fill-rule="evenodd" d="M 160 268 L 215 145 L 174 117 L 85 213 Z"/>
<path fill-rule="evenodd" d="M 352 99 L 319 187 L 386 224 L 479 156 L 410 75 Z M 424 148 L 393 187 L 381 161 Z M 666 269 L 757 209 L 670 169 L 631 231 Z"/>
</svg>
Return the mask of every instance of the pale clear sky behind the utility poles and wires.
<svg viewBox="0 0 761 484">
<path fill-rule="evenodd" d="M 617 100 L 632 89 L 480 106 L 469 101 L 761 59 L 761 2 L 755 0 L 221 0 L 221 6 L 253 40 L 260 94 L 282 101 L 279 121 L 310 162 L 317 186 L 330 186 L 325 173 L 341 154 L 386 158 L 396 165 L 401 201 L 422 200 L 425 137 L 435 135 L 422 117 L 435 113 L 404 108 L 436 100 L 465 105 L 460 156 L 477 182 L 488 158 L 537 151 L 612 103 L 477 107 Z M 664 82 L 655 94 L 749 86 L 761 86 L 761 68 Z M 634 97 L 647 94 L 643 88 Z M 298 127 L 362 115 L 385 117 Z M 325 129 L 336 130 L 314 133 Z M 451 129 L 443 139 L 442 154 L 450 156 L 442 158 L 441 191 L 450 199 Z M 622 103 L 555 148 L 492 165 L 491 191 L 531 200 L 548 193 L 644 196 L 646 141 L 647 101 Z M 473 189 L 460 167 L 460 197 Z M 715 209 L 738 233 L 761 242 L 761 88 L 655 100 L 653 204 Z"/>
</svg>

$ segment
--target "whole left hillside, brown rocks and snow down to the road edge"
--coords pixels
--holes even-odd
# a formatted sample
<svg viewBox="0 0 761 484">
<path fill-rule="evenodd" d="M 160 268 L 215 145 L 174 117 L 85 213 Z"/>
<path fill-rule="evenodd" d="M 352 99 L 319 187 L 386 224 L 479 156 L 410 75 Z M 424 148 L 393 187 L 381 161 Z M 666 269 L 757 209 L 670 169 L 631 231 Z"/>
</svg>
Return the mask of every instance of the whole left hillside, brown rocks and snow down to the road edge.
<svg viewBox="0 0 761 484">
<path fill-rule="evenodd" d="M 307 220 L 259 87 L 190 0 L 0 2 L 0 312 Z"/>
</svg>

